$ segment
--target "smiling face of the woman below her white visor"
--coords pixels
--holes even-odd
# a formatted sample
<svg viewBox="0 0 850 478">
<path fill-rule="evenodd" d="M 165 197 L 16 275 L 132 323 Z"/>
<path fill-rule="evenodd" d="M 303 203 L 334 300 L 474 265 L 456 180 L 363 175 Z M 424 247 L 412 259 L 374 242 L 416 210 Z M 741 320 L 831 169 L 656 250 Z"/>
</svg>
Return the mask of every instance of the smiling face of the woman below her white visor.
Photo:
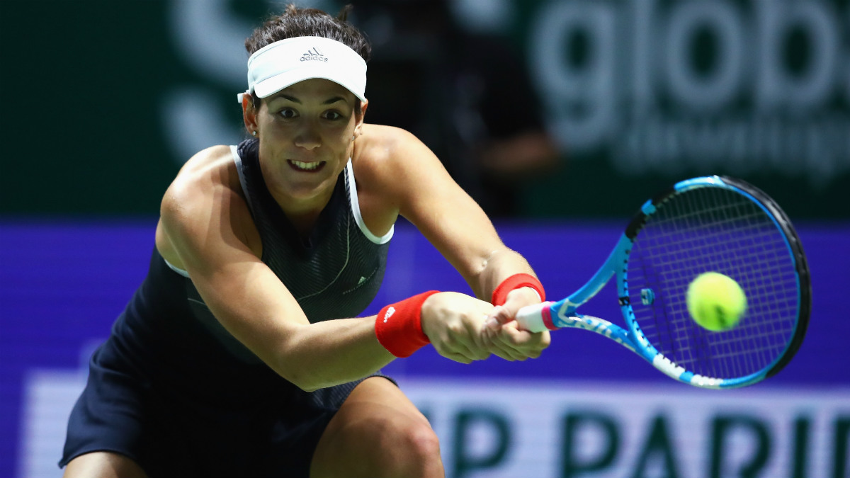
<svg viewBox="0 0 850 478">
<path fill-rule="evenodd" d="M 330 198 L 362 124 L 355 105 L 348 89 L 318 78 L 263 99 L 256 113 L 260 167 L 278 201 Z"/>
</svg>

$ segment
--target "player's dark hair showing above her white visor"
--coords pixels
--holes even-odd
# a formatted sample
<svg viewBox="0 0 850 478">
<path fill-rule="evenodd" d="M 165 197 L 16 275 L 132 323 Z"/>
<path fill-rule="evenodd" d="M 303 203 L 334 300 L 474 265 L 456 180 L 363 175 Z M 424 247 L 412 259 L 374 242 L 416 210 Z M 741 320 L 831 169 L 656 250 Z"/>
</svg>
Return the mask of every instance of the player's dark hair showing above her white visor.
<svg viewBox="0 0 850 478">
<path fill-rule="evenodd" d="M 343 43 L 368 62 L 371 58 L 371 43 L 347 21 L 352 8 L 348 4 L 334 17 L 320 9 L 303 9 L 290 3 L 286 5 L 283 14 L 270 16 L 246 38 L 245 49 L 251 55 L 266 45 L 286 38 L 326 37 Z M 258 106 L 260 99 L 257 94 L 252 96 L 254 106 Z M 357 103 L 359 105 L 360 100 Z"/>
</svg>

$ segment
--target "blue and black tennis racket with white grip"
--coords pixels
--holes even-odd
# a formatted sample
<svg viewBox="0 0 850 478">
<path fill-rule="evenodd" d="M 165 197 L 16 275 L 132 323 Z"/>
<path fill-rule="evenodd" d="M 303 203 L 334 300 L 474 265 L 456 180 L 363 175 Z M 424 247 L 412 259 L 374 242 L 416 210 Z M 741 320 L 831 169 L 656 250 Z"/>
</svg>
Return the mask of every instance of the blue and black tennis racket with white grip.
<svg viewBox="0 0 850 478">
<path fill-rule="evenodd" d="M 711 332 L 689 316 L 689 283 L 703 272 L 732 277 L 747 310 L 737 327 Z M 616 276 L 626 327 L 576 310 Z M 802 344 L 811 284 L 800 239 L 767 194 L 740 179 L 681 181 L 645 202 L 604 265 L 558 302 L 519 310 L 532 332 L 562 327 L 614 339 L 686 384 L 724 389 L 778 373 Z"/>
</svg>

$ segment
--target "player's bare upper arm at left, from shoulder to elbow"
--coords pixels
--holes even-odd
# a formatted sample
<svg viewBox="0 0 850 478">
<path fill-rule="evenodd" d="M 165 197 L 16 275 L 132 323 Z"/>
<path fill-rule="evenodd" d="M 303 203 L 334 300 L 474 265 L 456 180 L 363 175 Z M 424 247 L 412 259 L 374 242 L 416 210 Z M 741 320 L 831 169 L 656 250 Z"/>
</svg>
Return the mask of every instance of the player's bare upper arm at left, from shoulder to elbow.
<svg viewBox="0 0 850 478">
<path fill-rule="evenodd" d="M 284 374 L 275 364 L 286 338 L 309 322 L 258 258 L 247 204 L 226 176 L 222 168 L 181 172 L 161 203 L 164 236 L 218 321 Z"/>
</svg>

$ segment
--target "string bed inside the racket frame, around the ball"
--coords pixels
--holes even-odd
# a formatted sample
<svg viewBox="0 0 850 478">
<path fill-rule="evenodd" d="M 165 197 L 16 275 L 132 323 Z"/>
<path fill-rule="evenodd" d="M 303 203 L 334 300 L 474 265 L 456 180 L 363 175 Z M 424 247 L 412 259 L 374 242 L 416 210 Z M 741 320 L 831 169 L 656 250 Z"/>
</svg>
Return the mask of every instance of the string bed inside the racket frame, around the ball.
<svg viewBox="0 0 850 478">
<path fill-rule="evenodd" d="M 747 296 L 745 316 L 727 332 L 709 332 L 689 316 L 689 283 L 707 271 L 732 277 Z M 734 378 L 769 367 L 796 327 L 797 281 L 785 236 L 734 191 L 700 188 L 658 205 L 635 239 L 628 285 L 646 339 L 700 375 Z M 652 304 L 642 304 L 644 288 L 655 292 Z"/>
</svg>

